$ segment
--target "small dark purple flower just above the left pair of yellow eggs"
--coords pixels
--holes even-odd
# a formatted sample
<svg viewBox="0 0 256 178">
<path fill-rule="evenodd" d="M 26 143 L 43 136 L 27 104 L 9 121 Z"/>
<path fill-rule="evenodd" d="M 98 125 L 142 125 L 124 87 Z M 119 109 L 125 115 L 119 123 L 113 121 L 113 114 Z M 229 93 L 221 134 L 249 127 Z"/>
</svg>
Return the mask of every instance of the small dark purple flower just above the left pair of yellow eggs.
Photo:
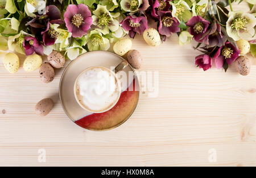
<svg viewBox="0 0 256 178">
<path fill-rule="evenodd" d="M 32 55 L 34 52 L 41 56 L 44 55 L 43 45 L 33 36 L 24 37 L 23 47 L 27 56 Z"/>
</svg>

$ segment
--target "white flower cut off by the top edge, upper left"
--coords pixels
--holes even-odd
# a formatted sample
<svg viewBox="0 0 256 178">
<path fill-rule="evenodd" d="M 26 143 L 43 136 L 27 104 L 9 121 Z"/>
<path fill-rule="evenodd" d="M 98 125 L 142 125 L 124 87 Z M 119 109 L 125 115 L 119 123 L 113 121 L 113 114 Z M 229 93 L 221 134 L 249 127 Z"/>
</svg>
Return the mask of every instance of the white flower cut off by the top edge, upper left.
<svg viewBox="0 0 256 178">
<path fill-rule="evenodd" d="M 38 14 L 46 13 L 46 2 L 43 0 L 26 0 L 28 13 L 38 11 Z"/>
</svg>

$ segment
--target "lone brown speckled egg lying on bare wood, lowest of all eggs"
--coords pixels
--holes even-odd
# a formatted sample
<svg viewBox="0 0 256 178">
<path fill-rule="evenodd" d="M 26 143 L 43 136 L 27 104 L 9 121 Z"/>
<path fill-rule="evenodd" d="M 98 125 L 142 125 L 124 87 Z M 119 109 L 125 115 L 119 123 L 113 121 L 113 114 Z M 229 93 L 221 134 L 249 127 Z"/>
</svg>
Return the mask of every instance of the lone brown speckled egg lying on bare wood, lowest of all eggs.
<svg viewBox="0 0 256 178">
<path fill-rule="evenodd" d="M 53 101 L 51 98 L 45 98 L 38 102 L 35 106 L 36 114 L 47 115 L 53 107 Z"/>
</svg>

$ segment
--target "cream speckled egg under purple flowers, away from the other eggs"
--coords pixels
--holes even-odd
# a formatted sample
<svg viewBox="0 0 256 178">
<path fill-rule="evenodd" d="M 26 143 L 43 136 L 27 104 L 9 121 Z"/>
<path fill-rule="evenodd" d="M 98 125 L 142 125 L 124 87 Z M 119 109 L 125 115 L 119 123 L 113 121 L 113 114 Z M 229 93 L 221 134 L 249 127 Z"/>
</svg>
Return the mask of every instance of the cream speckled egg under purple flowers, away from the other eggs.
<svg viewBox="0 0 256 178">
<path fill-rule="evenodd" d="M 158 46 L 161 43 L 160 35 L 155 28 L 148 28 L 143 32 L 143 38 L 148 45 Z"/>
</svg>

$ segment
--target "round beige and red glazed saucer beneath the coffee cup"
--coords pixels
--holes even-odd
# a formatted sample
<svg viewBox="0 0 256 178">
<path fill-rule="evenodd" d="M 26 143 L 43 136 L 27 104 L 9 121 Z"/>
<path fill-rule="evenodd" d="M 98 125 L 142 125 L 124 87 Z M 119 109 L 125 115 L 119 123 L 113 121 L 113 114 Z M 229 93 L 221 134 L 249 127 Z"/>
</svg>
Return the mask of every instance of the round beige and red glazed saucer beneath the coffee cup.
<svg viewBox="0 0 256 178">
<path fill-rule="evenodd" d="M 84 69 L 94 66 L 111 69 L 110 67 L 117 66 L 122 60 L 121 56 L 112 52 L 92 51 L 80 55 L 65 68 L 60 78 L 60 103 L 68 117 L 77 125 L 94 131 L 110 130 L 121 125 L 133 114 L 139 100 L 139 82 L 134 69 L 130 65 L 120 72 L 125 72 L 127 77 L 119 77 L 123 85 L 117 104 L 104 113 L 90 113 L 82 109 L 73 92 L 76 78 Z M 129 77 L 131 73 L 133 75 Z M 122 76 L 122 74 L 119 76 Z"/>
</svg>

